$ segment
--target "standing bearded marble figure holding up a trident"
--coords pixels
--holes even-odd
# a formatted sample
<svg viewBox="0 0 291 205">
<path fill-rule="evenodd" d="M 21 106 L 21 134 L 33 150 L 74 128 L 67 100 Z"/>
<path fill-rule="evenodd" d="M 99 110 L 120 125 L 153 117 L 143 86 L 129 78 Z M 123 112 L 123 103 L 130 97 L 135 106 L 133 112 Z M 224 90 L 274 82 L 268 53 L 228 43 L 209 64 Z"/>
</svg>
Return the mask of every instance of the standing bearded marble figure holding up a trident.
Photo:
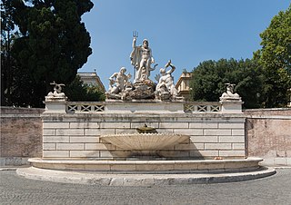
<svg viewBox="0 0 291 205">
<path fill-rule="evenodd" d="M 143 41 L 142 45 L 136 46 L 138 33 L 134 32 L 133 36 L 133 51 L 130 54 L 130 61 L 135 67 L 135 82 L 148 80 L 150 72 L 154 71 L 156 68 L 156 65 L 154 68 L 151 68 L 151 64 L 155 63 L 152 50 L 148 46 L 148 41 L 146 39 Z"/>
</svg>

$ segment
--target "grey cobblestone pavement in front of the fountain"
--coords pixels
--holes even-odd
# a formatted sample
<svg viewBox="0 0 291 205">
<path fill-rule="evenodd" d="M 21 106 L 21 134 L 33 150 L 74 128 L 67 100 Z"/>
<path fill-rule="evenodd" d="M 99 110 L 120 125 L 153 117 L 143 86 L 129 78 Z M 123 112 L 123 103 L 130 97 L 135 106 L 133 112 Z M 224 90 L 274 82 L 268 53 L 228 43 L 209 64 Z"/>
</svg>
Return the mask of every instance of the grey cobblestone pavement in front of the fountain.
<svg viewBox="0 0 291 205">
<path fill-rule="evenodd" d="M 0 171 L 0 204 L 291 204 L 291 169 L 255 181 L 163 187 L 34 181 Z"/>
</svg>

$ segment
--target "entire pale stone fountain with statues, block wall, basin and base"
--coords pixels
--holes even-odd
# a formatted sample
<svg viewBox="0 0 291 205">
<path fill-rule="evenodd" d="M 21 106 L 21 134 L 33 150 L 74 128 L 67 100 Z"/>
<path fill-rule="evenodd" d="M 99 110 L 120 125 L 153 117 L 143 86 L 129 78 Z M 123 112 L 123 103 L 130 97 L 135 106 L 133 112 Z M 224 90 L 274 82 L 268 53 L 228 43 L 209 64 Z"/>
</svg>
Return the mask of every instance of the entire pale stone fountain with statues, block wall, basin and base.
<svg viewBox="0 0 291 205">
<path fill-rule="evenodd" d="M 242 101 L 227 83 L 220 102 L 185 102 L 168 61 L 157 83 L 148 41 L 136 46 L 132 75 L 109 78 L 105 102 L 67 102 L 61 85 L 45 97 L 43 156 L 17 173 L 46 181 L 169 185 L 244 181 L 274 174 L 247 158 Z M 144 126 L 141 126 L 143 125 Z M 147 126 L 147 124 L 149 126 Z M 137 127 L 137 129 L 135 129 Z M 88 172 L 90 171 L 90 172 Z"/>
</svg>

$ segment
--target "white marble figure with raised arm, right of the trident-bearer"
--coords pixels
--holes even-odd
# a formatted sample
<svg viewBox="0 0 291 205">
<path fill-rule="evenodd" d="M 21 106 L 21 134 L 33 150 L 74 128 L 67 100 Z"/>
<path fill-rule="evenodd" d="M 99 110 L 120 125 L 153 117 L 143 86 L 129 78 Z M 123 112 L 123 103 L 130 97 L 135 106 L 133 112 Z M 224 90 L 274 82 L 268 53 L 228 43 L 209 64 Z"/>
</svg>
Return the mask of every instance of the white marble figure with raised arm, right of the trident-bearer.
<svg viewBox="0 0 291 205">
<path fill-rule="evenodd" d="M 166 71 L 167 67 L 171 67 L 171 69 Z M 171 63 L 171 60 L 166 63 L 165 68 L 160 69 L 161 76 L 156 84 L 157 99 L 167 100 L 167 98 L 176 98 L 177 90 L 174 84 L 174 78 L 172 76 L 175 69 L 176 67 Z"/>
</svg>

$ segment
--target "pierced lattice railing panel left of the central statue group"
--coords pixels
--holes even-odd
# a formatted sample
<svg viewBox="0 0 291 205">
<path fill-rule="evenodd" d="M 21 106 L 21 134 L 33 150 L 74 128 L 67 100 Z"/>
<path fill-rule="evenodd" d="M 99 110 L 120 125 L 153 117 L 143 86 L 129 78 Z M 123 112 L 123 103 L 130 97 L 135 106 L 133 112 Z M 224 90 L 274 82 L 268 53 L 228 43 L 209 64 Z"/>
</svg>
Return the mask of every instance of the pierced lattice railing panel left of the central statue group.
<svg viewBox="0 0 291 205">
<path fill-rule="evenodd" d="M 67 102 L 66 112 L 104 112 L 105 102 Z"/>
</svg>

